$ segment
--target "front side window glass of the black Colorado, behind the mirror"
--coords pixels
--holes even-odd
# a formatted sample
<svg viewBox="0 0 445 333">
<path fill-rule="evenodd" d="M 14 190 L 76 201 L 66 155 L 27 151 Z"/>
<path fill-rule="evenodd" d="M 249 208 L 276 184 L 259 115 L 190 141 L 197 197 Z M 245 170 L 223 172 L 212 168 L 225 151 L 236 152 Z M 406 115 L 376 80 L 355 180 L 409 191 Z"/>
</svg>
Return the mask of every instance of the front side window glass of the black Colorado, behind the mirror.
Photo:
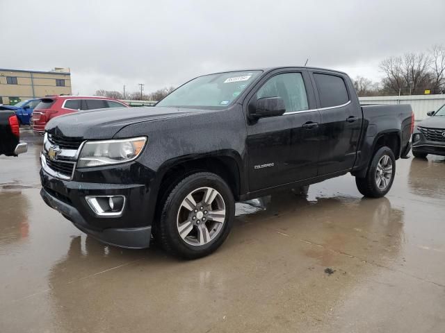
<svg viewBox="0 0 445 333">
<path fill-rule="evenodd" d="M 270 78 L 257 92 L 257 99 L 266 97 L 281 97 L 286 105 L 286 112 L 309 109 L 301 73 L 284 73 Z"/>
</svg>

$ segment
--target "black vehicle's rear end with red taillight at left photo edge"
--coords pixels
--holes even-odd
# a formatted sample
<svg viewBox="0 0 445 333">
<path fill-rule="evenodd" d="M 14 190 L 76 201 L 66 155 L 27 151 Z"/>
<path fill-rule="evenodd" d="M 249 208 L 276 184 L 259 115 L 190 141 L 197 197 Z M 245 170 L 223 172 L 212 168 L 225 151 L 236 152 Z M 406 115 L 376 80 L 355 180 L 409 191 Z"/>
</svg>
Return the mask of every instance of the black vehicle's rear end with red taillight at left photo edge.
<svg viewBox="0 0 445 333">
<path fill-rule="evenodd" d="M 17 156 L 28 151 L 26 143 L 20 143 L 19 119 L 7 105 L 0 105 L 0 155 Z"/>
</svg>

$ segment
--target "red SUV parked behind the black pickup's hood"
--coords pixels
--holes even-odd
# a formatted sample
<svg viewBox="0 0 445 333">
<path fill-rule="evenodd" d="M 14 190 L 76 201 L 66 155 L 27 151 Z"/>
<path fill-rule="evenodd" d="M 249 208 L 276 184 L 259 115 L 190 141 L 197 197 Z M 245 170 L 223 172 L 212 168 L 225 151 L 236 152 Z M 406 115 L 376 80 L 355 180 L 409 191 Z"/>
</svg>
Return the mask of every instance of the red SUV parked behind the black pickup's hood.
<svg viewBox="0 0 445 333">
<path fill-rule="evenodd" d="M 129 108 L 117 99 L 99 96 L 47 96 L 34 108 L 32 121 L 34 133 L 44 135 L 44 126 L 54 117 L 80 110 L 104 108 Z"/>
</svg>

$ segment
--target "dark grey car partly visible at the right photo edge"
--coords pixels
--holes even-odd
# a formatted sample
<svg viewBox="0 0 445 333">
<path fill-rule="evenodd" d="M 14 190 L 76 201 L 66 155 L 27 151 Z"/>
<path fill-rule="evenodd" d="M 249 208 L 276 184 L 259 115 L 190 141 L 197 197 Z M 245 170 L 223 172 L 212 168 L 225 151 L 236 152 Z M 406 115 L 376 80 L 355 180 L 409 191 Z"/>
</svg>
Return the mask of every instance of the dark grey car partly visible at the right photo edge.
<svg viewBox="0 0 445 333">
<path fill-rule="evenodd" d="M 428 154 L 445 156 L 445 105 L 428 112 L 412 134 L 412 155 L 425 158 Z"/>
</svg>

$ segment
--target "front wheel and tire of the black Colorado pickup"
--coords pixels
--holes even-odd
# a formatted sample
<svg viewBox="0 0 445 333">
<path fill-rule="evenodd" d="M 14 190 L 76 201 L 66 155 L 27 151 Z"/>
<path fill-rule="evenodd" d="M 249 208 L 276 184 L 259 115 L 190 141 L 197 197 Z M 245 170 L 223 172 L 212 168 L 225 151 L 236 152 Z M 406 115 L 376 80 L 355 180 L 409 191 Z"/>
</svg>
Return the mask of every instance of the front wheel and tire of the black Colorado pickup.
<svg viewBox="0 0 445 333">
<path fill-rule="evenodd" d="M 223 244 L 234 216 L 234 196 L 226 182 L 214 173 L 198 172 L 186 176 L 168 194 L 156 235 L 166 252 L 197 259 Z"/>
</svg>

